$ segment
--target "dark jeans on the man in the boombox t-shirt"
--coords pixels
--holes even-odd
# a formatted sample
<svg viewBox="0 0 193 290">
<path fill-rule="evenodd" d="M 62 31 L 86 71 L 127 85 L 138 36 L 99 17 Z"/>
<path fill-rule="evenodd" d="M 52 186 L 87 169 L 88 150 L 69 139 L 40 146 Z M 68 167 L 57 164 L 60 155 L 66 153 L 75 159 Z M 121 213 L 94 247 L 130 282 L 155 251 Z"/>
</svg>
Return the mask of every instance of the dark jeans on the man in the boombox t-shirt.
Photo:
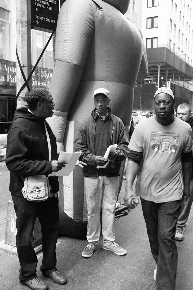
<svg viewBox="0 0 193 290">
<path fill-rule="evenodd" d="M 157 290 L 175 290 L 178 252 L 174 237 L 181 202 L 154 203 L 141 198 L 151 253 L 157 263 Z"/>
</svg>

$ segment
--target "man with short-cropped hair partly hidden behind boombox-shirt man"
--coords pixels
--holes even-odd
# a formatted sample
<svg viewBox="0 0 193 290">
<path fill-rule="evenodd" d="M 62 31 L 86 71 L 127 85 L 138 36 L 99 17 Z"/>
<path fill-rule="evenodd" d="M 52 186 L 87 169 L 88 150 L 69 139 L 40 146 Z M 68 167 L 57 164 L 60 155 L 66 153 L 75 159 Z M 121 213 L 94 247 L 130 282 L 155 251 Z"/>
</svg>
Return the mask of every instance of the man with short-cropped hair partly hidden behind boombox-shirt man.
<svg viewBox="0 0 193 290">
<path fill-rule="evenodd" d="M 193 117 L 192 117 L 192 108 L 190 105 L 183 103 L 180 104 L 177 108 L 177 118 L 185 121 L 190 124 L 191 129 L 193 130 Z M 193 159 L 192 159 L 193 161 Z M 193 162 L 192 162 L 193 164 Z M 188 220 L 188 216 L 190 214 L 191 205 L 193 201 L 193 167 L 191 171 L 191 181 L 190 181 L 190 196 L 186 200 L 182 200 L 182 205 L 180 209 L 180 214 L 178 218 L 178 222 L 176 225 L 176 235 L 175 240 L 182 241 L 184 238 L 183 227 L 186 226 L 186 222 Z"/>
</svg>

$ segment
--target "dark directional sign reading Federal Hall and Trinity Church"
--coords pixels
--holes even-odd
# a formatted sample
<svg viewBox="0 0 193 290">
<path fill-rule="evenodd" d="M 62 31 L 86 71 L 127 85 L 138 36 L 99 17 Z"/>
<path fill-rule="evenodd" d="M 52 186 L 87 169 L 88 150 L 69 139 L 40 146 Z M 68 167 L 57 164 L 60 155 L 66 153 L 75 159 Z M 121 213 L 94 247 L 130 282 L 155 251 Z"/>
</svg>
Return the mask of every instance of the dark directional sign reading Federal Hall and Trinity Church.
<svg viewBox="0 0 193 290">
<path fill-rule="evenodd" d="M 31 28 L 52 32 L 57 24 L 59 0 L 31 0 Z"/>
</svg>

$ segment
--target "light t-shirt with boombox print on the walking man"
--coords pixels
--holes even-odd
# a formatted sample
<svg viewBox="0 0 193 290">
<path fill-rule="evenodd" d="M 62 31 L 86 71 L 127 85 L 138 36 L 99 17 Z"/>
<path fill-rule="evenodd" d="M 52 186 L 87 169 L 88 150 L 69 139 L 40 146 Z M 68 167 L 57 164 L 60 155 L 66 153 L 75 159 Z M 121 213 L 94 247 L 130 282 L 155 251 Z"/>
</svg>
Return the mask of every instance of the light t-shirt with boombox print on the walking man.
<svg viewBox="0 0 193 290">
<path fill-rule="evenodd" d="M 136 126 L 128 148 L 143 152 L 135 186 L 141 198 L 156 203 L 182 198 L 181 153 L 192 150 L 188 123 L 175 117 L 172 124 L 163 126 L 150 117 Z"/>
</svg>

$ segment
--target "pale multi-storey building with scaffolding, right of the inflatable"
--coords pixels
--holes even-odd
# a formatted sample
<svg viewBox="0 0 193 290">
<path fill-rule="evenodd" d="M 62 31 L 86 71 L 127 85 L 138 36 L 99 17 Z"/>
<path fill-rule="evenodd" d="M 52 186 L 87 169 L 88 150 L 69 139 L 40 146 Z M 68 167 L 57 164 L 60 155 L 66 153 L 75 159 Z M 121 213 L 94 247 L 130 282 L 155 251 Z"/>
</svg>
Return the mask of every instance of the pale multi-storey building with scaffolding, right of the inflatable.
<svg viewBox="0 0 193 290">
<path fill-rule="evenodd" d="M 193 107 L 192 0 L 133 0 L 128 13 L 141 27 L 148 60 L 147 78 L 134 91 L 134 110 L 152 111 L 152 94 L 160 86 L 170 86 L 176 107 Z"/>
</svg>

